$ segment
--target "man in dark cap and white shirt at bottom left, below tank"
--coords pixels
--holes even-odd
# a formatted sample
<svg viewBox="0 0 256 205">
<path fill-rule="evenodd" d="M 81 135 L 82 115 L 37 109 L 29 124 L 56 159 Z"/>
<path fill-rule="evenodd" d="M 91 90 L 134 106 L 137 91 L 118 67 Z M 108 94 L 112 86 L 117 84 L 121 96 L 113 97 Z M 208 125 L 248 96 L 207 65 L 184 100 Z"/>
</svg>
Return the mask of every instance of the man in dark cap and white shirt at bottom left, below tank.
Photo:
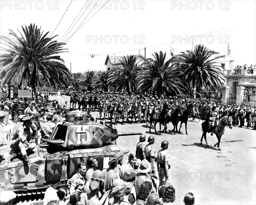
<svg viewBox="0 0 256 205">
<path fill-rule="evenodd" d="M 61 175 L 59 174 L 53 174 L 50 178 L 51 185 L 44 193 L 44 205 L 47 205 L 48 202 L 59 200 L 56 188 L 59 185 L 59 182 L 61 181 Z"/>
</svg>

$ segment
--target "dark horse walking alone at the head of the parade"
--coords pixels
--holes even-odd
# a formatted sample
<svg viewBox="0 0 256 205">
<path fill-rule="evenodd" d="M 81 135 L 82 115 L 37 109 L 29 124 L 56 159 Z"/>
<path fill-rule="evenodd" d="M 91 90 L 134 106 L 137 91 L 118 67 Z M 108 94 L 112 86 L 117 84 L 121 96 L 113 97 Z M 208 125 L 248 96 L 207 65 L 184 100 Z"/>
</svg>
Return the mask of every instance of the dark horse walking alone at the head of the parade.
<svg viewBox="0 0 256 205">
<path fill-rule="evenodd" d="M 221 141 L 221 136 L 224 134 L 225 131 L 225 127 L 228 126 L 230 129 L 232 129 L 232 117 L 231 116 L 224 116 L 223 118 L 220 119 L 219 122 L 217 122 L 217 125 L 215 127 L 213 127 L 212 129 L 209 129 L 208 126 L 208 122 L 209 121 L 203 121 L 202 122 L 202 137 L 201 137 L 201 145 L 203 144 L 203 137 L 205 139 L 205 143 L 206 146 L 209 147 L 209 145 L 207 144 L 207 140 L 206 140 L 206 133 L 210 133 L 213 132 L 215 133 L 218 142 L 214 144 L 214 147 L 216 147 L 216 145 L 218 145 L 218 150 L 221 150 L 220 148 L 220 141 Z"/>
</svg>

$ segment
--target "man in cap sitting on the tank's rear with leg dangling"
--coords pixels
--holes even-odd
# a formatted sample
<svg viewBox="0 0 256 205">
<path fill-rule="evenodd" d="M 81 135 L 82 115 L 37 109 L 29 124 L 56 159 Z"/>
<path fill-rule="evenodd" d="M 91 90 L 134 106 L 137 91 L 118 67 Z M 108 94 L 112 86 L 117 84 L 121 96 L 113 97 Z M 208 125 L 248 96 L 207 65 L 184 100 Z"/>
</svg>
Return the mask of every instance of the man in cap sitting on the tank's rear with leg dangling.
<svg viewBox="0 0 256 205">
<path fill-rule="evenodd" d="M 11 149 L 15 152 L 12 154 L 11 160 L 17 156 L 23 156 L 26 163 L 29 163 L 27 153 L 31 152 L 35 147 L 35 143 L 29 143 L 31 140 L 30 126 L 32 125 L 32 116 L 24 117 L 23 124 L 17 129 L 17 139 L 11 144 Z"/>
</svg>

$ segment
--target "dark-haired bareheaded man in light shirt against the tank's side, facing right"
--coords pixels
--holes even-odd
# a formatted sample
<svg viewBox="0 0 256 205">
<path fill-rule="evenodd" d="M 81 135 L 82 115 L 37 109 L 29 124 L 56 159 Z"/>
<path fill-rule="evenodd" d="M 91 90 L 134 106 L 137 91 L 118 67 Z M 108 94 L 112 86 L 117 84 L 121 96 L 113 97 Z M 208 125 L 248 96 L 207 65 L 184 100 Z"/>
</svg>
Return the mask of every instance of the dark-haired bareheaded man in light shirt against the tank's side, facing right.
<svg viewBox="0 0 256 205">
<path fill-rule="evenodd" d="M 84 192 L 85 172 L 86 172 L 86 165 L 84 165 L 84 163 L 79 163 L 77 165 L 77 173 L 75 173 L 72 176 L 72 178 L 67 181 L 67 185 L 70 188 L 70 194 L 75 191 L 78 191 L 80 193 Z"/>
</svg>

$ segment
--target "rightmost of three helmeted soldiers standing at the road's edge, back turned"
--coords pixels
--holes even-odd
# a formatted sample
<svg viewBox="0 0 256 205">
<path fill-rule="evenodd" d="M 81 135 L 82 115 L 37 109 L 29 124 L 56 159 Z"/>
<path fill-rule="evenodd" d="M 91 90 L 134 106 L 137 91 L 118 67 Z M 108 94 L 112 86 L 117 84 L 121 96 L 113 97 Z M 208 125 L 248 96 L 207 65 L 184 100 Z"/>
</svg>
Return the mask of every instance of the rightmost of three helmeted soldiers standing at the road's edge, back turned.
<svg viewBox="0 0 256 205">
<path fill-rule="evenodd" d="M 161 150 L 157 153 L 157 171 L 159 176 L 159 187 L 165 186 L 169 178 L 169 154 L 167 153 L 169 141 L 162 141 Z"/>
</svg>

